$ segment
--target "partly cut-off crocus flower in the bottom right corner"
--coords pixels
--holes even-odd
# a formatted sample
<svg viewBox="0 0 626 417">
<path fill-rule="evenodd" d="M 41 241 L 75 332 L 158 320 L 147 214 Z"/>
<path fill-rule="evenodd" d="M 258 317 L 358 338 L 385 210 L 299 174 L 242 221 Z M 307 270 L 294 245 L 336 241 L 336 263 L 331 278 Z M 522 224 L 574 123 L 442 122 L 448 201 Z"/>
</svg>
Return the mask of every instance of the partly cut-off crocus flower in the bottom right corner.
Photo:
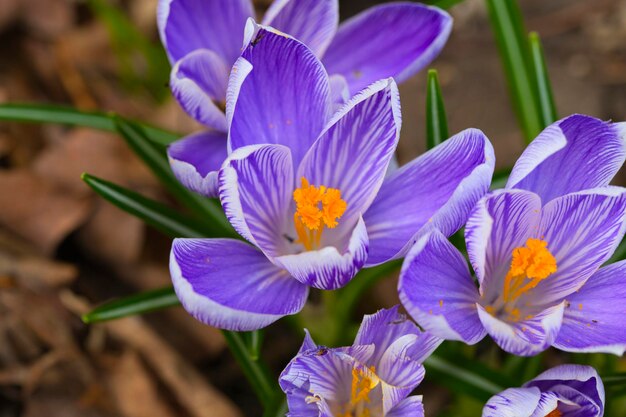
<svg viewBox="0 0 626 417">
<path fill-rule="evenodd" d="M 483 417 L 602 417 L 604 385 L 590 366 L 561 365 L 489 399 Z"/>
</svg>

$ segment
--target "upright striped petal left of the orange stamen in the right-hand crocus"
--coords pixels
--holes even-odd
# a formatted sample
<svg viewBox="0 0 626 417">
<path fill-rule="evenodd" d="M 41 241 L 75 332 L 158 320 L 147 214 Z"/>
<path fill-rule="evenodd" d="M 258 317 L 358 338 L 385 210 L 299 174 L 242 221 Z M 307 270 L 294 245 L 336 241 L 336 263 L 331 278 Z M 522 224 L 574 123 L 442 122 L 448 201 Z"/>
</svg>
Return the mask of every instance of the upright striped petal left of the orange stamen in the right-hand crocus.
<svg viewBox="0 0 626 417">
<path fill-rule="evenodd" d="M 540 212 L 536 194 L 499 190 L 481 199 L 470 214 L 465 226 L 467 252 L 487 300 L 502 291 L 513 249 L 532 236 Z"/>
</svg>

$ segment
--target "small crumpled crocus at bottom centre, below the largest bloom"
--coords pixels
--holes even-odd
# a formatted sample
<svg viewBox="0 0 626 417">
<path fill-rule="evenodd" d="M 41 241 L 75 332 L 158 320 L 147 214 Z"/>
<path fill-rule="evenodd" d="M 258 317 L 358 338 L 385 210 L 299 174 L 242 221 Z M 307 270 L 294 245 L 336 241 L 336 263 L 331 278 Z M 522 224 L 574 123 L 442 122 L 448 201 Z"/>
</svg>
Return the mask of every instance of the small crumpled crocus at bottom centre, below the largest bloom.
<svg viewBox="0 0 626 417">
<path fill-rule="evenodd" d="M 408 396 L 424 379 L 422 362 L 441 339 L 422 333 L 398 307 L 365 316 L 350 347 L 316 345 L 308 333 L 280 375 L 288 416 L 424 415 L 422 396 Z"/>
</svg>

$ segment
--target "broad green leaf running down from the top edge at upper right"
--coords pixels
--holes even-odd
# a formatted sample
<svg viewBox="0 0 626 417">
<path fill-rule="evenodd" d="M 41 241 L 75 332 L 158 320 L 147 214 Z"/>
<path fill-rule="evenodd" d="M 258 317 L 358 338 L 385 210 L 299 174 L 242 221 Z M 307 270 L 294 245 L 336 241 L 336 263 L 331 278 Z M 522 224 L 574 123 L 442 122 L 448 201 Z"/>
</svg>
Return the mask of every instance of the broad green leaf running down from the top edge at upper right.
<svg viewBox="0 0 626 417">
<path fill-rule="evenodd" d="M 513 106 L 530 143 L 542 130 L 542 119 L 521 11 L 516 0 L 486 2 Z"/>
</svg>

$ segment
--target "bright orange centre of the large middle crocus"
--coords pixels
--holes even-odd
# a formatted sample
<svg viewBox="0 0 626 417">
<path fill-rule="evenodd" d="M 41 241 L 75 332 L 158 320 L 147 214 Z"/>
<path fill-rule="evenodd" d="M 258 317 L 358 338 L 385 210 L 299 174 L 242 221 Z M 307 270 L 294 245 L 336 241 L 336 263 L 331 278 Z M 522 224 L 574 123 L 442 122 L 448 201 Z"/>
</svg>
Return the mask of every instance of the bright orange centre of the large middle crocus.
<svg viewBox="0 0 626 417">
<path fill-rule="evenodd" d="M 296 202 L 294 222 L 298 240 L 306 250 L 319 247 L 324 227 L 333 229 L 346 211 L 348 204 L 341 199 L 341 191 L 316 187 L 302 177 L 302 185 L 293 192 Z"/>
</svg>

